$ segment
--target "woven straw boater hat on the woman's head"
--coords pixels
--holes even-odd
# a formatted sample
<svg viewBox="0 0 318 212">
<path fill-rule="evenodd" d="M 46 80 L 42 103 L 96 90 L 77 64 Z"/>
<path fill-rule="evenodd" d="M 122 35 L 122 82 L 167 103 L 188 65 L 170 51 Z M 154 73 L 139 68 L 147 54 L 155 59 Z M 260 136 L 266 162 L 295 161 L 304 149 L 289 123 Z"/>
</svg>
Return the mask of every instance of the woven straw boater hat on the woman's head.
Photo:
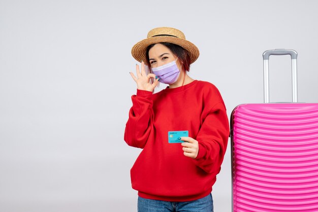
<svg viewBox="0 0 318 212">
<path fill-rule="evenodd" d="M 199 57 L 199 49 L 193 43 L 185 40 L 182 31 L 170 27 L 158 27 L 151 29 L 148 32 L 147 38 L 135 44 L 132 48 L 133 57 L 141 62 L 146 61 L 146 49 L 151 44 L 156 43 L 172 43 L 183 47 L 188 51 L 191 63 L 196 61 Z"/>
</svg>

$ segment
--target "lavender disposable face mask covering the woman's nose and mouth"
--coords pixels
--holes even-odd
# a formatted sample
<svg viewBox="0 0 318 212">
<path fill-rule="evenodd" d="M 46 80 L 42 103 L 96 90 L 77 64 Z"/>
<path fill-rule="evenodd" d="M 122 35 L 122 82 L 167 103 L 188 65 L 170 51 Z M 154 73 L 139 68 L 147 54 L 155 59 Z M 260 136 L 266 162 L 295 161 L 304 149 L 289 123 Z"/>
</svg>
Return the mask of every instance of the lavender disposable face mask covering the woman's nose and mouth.
<svg viewBox="0 0 318 212">
<path fill-rule="evenodd" d="M 177 60 L 151 69 L 156 78 L 160 78 L 159 82 L 173 84 L 178 80 L 180 70 L 176 64 L 176 61 Z"/>
</svg>

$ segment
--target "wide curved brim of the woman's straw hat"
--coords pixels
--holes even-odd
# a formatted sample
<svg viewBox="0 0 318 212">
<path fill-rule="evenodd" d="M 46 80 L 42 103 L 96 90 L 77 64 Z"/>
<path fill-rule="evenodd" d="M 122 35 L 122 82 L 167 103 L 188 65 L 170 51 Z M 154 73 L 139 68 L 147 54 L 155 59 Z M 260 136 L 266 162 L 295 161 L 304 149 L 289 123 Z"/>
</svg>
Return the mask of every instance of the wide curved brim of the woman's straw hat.
<svg viewBox="0 0 318 212">
<path fill-rule="evenodd" d="M 172 37 L 172 36 L 158 36 L 158 37 L 151 37 L 144 39 L 137 44 L 135 44 L 132 48 L 132 55 L 133 57 L 141 62 L 146 61 L 146 49 L 151 44 L 157 44 L 157 43 L 172 43 L 181 46 L 185 50 L 188 51 L 191 63 L 195 62 L 199 55 L 199 49 L 194 45 L 193 43 L 186 41 L 184 39 Z"/>
</svg>

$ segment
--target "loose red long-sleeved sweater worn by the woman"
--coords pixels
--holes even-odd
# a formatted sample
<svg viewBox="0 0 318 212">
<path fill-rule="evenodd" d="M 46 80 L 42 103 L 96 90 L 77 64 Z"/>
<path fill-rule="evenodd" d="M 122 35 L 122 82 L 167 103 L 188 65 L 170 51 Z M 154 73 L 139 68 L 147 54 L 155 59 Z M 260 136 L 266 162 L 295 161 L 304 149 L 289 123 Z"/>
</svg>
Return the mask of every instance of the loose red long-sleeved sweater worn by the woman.
<svg viewBox="0 0 318 212">
<path fill-rule="evenodd" d="M 142 148 L 131 169 L 133 189 L 147 199 L 191 201 L 212 191 L 229 138 L 225 104 L 217 88 L 195 80 L 158 93 L 138 90 L 124 140 Z M 188 130 L 198 140 L 196 159 L 183 155 L 180 143 L 168 143 L 168 131 Z"/>
</svg>

